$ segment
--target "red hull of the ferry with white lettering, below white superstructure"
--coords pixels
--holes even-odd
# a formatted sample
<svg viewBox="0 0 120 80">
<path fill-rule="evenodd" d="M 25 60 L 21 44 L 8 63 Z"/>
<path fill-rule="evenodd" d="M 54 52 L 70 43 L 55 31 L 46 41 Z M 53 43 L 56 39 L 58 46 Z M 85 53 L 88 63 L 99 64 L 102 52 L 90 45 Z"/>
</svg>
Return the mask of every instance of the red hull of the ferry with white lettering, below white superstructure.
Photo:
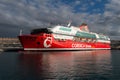
<svg viewBox="0 0 120 80">
<path fill-rule="evenodd" d="M 21 35 L 19 40 L 24 50 L 92 50 L 111 48 L 110 43 L 55 39 L 51 34 Z"/>
</svg>

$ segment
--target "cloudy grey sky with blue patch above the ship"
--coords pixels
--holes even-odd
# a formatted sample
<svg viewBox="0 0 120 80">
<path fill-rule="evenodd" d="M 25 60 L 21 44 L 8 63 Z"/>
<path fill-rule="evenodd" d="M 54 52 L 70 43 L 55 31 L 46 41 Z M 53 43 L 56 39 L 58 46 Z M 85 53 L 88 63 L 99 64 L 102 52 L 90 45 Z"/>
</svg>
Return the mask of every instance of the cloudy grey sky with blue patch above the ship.
<svg viewBox="0 0 120 80">
<path fill-rule="evenodd" d="M 120 34 L 120 0 L 0 0 L 0 37 L 51 25 L 87 23 L 90 31 Z"/>
</svg>

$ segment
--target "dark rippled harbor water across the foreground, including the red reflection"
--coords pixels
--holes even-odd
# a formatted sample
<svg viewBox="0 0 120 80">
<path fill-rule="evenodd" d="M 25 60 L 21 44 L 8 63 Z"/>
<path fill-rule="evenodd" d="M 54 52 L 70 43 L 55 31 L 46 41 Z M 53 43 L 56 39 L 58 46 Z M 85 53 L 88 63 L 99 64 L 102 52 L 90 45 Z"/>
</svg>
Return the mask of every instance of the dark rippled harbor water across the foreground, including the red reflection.
<svg viewBox="0 0 120 80">
<path fill-rule="evenodd" d="M 0 80 L 120 80 L 120 50 L 0 52 Z"/>
</svg>

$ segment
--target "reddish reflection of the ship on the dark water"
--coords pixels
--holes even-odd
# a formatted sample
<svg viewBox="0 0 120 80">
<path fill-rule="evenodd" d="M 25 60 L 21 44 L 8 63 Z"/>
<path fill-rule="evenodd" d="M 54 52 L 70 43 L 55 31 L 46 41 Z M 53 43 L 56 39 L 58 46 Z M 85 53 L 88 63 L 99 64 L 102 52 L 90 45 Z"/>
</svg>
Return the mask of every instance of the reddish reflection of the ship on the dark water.
<svg viewBox="0 0 120 80">
<path fill-rule="evenodd" d="M 20 52 L 21 73 L 34 79 L 108 79 L 110 50 Z"/>
</svg>

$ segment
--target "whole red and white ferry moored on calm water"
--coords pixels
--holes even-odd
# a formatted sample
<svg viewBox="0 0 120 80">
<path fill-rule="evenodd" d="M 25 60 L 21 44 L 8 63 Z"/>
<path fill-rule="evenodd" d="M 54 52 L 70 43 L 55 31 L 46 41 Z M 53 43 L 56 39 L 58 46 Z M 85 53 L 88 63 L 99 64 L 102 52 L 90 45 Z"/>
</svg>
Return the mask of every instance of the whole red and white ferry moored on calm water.
<svg viewBox="0 0 120 80">
<path fill-rule="evenodd" d="M 90 32 L 85 23 L 80 27 L 56 25 L 33 29 L 30 34 L 18 37 L 24 50 L 111 49 L 110 38 Z"/>
</svg>

